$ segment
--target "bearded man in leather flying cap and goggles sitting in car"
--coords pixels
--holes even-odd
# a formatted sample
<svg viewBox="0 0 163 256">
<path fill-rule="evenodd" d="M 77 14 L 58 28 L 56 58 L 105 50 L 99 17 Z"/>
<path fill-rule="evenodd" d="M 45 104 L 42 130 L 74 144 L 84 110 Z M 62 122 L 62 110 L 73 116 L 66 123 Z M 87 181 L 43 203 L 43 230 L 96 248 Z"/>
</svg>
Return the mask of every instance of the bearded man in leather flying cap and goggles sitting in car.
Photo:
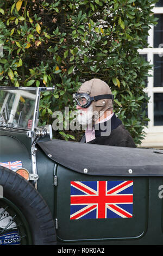
<svg viewBox="0 0 163 256">
<path fill-rule="evenodd" d="M 86 126 L 80 142 L 136 147 L 130 133 L 112 111 L 114 96 L 108 84 L 94 78 L 83 83 L 73 97 L 77 103 L 77 120 Z"/>
</svg>

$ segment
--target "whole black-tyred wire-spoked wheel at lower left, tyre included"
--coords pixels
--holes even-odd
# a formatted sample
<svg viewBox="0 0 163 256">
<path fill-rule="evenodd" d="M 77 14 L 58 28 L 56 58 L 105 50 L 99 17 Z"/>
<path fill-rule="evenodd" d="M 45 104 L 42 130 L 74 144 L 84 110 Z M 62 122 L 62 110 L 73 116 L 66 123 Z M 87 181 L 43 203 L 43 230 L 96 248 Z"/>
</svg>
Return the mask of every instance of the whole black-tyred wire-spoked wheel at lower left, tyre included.
<svg viewBox="0 0 163 256">
<path fill-rule="evenodd" d="M 0 245 L 56 245 L 51 211 L 34 186 L 2 166 L 0 185 Z"/>
</svg>

